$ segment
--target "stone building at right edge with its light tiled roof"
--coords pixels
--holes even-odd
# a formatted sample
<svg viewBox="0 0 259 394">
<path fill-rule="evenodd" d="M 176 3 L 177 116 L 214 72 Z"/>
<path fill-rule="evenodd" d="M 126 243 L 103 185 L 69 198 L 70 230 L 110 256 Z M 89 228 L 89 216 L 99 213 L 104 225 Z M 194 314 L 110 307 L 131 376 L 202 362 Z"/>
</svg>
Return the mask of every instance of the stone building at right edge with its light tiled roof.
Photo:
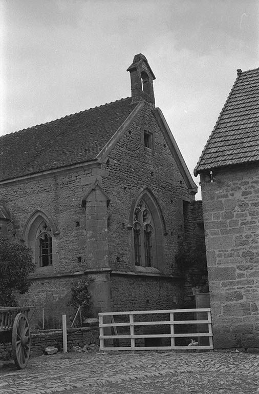
<svg viewBox="0 0 259 394">
<path fill-rule="evenodd" d="M 259 347 L 258 68 L 238 70 L 198 173 L 214 345 Z"/>
</svg>

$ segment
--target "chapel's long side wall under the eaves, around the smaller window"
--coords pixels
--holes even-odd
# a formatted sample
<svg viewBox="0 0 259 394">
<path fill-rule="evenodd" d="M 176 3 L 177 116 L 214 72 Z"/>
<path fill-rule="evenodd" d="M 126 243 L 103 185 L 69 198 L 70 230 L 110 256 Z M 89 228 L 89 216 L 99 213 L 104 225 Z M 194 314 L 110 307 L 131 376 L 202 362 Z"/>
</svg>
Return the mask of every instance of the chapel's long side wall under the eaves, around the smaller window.
<svg viewBox="0 0 259 394">
<path fill-rule="evenodd" d="M 62 313 L 70 314 L 67 302 L 72 283 L 78 280 L 73 274 L 93 266 L 86 259 L 87 229 L 82 200 L 90 185 L 101 181 L 105 174 L 98 166 L 82 166 L 0 185 L 0 200 L 5 201 L 11 213 L 11 240 L 23 239 L 26 222 L 37 209 L 48 212 L 59 232 L 53 236 L 56 247 L 53 266 L 37 267 L 29 292 L 18 296 L 20 305 L 37 306 L 33 324 L 41 320 L 42 307 L 46 319 L 53 321 L 51 328 L 56 327 Z"/>
</svg>

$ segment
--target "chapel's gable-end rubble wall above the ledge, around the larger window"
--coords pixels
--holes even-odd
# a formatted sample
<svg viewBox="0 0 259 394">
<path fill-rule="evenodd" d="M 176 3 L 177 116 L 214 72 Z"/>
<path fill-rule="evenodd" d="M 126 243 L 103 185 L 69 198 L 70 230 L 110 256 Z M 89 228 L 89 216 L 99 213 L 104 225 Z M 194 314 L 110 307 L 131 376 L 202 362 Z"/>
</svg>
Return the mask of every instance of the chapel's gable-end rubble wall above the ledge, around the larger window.
<svg viewBox="0 0 259 394">
<path fill-rule="evenodd" d="M 112 269 L 132 271 L 132 233 L 126 228 L 136 196 L 149 188 L 161 207 L 166 231 L 163 244 L 165 273 L 172 273 L 178 249 L 178 235 L 183 233 L 182 198 L 188 197 L 188 188 L 173 159 L 164 137 L 148 104 L 116 144 L 109 155 L 106 169 L 109 175 L 103 179 L 111 202 L 109 214 L 109 259 Z M 146 149 L 142 142 L 144 130 L 154 135 L 154 151 Z"/>
</svg>

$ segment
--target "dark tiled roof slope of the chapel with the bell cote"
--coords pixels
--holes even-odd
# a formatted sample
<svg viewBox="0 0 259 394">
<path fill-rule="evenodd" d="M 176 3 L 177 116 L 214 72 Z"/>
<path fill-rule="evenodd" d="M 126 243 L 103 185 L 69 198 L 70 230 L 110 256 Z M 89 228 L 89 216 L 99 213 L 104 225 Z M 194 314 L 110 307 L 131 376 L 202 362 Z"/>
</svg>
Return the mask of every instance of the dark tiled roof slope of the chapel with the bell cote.
<svg viewBox="0 0 259 394">
<path fill-rule="evenodd" d="M 136 105 L 127 97 L 0 137 L 0 181 L 94 160 Z"/>
</svg>

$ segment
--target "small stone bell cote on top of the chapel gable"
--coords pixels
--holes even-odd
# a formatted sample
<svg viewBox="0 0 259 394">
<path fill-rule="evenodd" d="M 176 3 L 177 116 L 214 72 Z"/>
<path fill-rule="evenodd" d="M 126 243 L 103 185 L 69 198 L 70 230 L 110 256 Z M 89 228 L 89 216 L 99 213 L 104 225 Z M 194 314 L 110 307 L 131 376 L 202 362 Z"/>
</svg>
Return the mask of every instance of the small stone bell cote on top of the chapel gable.
<svg viewBox="0 0 259 394">
<path fill-rule="evenodd" d="M 156 79 L 146 57 L 139 53 L 127 71 L 131 73 L 132 102 L 146 100 L 155 105 L 153 80 Z"/>
</svg>

